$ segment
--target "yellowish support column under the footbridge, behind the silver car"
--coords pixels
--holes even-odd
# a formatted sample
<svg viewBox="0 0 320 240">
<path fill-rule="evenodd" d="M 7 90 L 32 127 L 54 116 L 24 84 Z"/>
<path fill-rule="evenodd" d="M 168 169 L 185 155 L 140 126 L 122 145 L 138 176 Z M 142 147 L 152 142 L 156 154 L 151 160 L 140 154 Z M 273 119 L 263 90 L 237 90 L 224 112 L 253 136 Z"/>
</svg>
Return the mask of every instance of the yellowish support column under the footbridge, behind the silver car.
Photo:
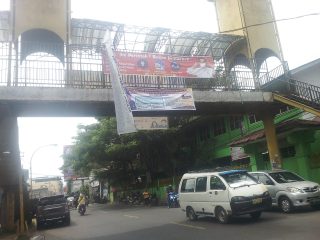
<svg viewBox="0 0 320 240">
<path fill-rule="evenodd" d="M 281 168 L 281 156 L 278 146 L 278 139 L 276 135 L 276 127 L 274 124 L 274 117 L 272 114 L 264 114 L 262 117 L 264 131 L 266 134 L 269 159 L 272 169 Z"/>
</svg>

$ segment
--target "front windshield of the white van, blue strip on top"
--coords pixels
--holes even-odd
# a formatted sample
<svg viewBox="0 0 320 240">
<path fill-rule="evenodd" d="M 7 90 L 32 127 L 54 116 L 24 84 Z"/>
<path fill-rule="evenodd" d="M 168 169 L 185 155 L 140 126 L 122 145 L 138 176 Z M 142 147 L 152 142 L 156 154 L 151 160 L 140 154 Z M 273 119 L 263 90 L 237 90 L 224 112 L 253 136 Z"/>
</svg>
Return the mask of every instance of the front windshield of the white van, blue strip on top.
<svg viewBox="0 0 320 240">
<path fill-rule="evenodd" d="M 258 181 L 247 172 L 230 172 L 220 174 L 232 188 L 258 184 Z"/>
</svg>

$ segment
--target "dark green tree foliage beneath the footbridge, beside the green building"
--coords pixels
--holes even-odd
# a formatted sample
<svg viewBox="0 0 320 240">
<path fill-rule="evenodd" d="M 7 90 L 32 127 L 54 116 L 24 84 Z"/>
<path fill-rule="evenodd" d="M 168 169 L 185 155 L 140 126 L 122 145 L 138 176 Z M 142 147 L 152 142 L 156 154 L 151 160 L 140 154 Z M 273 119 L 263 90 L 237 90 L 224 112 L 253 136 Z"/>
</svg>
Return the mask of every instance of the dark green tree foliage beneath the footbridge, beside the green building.
<svg viewBox="0 0 320 240">
<path fill-rule="evenodd" d="M 168 130 L 138 131 L 118 135 L 114 118 L 101 118 L 98 123 L 78 126 L 78 135 L 69 154 L 63 156 L 67 169 L 72 166 L 80 176 L 93 173 L 97 180 L 108 180 L 116 187 L 145 185 L 159 177 L 180 173 L 192 163 L 190 137 L 180 127 L 190 118 L 175 118 Z"/>
</svg>

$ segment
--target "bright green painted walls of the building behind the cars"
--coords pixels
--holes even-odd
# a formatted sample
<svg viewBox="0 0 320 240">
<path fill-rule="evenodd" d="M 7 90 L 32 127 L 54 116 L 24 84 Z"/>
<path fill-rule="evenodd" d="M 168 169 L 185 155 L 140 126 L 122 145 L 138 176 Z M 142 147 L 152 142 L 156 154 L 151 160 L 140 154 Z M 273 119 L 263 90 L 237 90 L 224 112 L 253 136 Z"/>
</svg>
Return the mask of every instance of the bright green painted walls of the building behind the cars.
<svg viewBox="0 0 320 240">
<path fill-rule="evenodd" d="M 275 123 L 281 123 L 289 119 L 297 119 L 302 115 L 299 109 L 291 109 L 275 117 Z M 200 158 L 208 158 L 210 161 L 230 156 L 229 143 L 263 129 L 262 121 L 255 123 L 249 122 L 249 117 L 244 116 L 242 129 L 230 129 L 229 117 L 224 117 L 226 132 L 213 136 L 210 127 L 210 139 L 207 141 L 198 141 Z M 291 170 L 302 177 L 320 183 L 320 130 L 300 130 L 286 133 L 279 136 L 280 150 L 287 147 L 294 147 L 295 154 L 282 158 L 283 169 Z M 244 147 L 245 152 L 250 156 L 250 170 L 271 169 L 267 153 L 267 144 L 265 140 L 252 143 Z M 263 154 L 264 153 L 264 154 Z"/>
</svg>

